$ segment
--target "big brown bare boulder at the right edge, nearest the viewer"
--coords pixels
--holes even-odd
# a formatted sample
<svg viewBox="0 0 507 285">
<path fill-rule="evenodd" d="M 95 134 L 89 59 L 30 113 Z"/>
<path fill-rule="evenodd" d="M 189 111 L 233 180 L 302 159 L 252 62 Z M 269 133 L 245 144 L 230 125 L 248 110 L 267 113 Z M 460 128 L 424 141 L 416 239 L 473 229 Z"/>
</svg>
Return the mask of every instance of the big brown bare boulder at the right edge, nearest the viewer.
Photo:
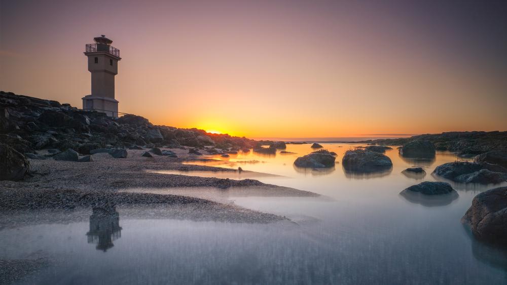
<svg viewBox="0 0 507 285">
<path fill-rule="evenodd" d="M 475 196 L 461 222 L 479 238 L 507 243 L 507 187 Z"/>
</svg>

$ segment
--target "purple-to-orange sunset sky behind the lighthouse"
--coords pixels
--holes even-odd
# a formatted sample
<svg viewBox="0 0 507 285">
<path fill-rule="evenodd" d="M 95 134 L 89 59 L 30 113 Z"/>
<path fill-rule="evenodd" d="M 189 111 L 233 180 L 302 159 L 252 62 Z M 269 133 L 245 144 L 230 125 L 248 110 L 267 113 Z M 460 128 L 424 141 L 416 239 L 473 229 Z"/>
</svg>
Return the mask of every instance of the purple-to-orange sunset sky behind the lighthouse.
<svg viewBox="0 0 507 285">
<path fill-rule="evenodd" d="M 505 1 L 0 0 L 0 90 L 82 107 L 85 44 L 121 112 L 247 137 L 507 130 Z"/>
</svg>

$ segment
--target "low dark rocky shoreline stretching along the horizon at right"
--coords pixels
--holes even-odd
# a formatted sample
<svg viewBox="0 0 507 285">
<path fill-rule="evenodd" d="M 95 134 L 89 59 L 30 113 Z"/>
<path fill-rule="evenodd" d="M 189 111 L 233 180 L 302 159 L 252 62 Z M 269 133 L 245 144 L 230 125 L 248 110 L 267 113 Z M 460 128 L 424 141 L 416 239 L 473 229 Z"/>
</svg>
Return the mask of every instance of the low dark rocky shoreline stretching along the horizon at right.
<svg viewBox="0 0 507 285">
<path fill-rule="evenodd" d="M 413 141 L 429 141 L 436 150 L 457 152 L 460 156 L 473 157 L 493 150 L 507 150 L 507 131 L 499 132 L 447 132 L 425 134 L 400 139 L 379 139 L 358 143 L 378 145 L 406 145 Z"/>
</svg>

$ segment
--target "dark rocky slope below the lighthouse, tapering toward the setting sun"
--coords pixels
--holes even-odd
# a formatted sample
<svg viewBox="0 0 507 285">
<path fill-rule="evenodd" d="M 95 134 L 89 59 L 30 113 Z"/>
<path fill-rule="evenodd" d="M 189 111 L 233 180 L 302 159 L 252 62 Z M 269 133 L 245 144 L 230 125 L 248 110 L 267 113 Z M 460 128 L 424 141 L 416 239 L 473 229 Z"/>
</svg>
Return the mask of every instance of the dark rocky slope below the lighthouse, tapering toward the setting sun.
<svg viewBox="0 0 507 285">
<path fill-rule="evenodd" d="M 198 129 L 154 126 L 146 118 L 84 111 L 68 104 L 0 92 L 0 139 L 20 153 L 73 149 L 90 154 L 100 148 L 196 147 L 250 148 L 255 141 Z"/>
</svg>

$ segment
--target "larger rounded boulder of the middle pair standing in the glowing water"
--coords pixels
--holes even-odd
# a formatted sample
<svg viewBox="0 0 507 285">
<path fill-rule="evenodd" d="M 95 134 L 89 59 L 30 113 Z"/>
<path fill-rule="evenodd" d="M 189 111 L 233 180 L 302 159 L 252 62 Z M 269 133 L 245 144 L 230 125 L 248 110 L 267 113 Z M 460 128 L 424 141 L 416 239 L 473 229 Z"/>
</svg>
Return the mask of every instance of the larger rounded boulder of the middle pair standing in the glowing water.
<svg viewBox="0 0 507 285">
<path fill-rule="evenodd" d="M 382 153 L 358 148 L 345 152 L 342 165 L 351 171 L 375 172 L 390 169 L 392 161 Z"/>
</svg>

